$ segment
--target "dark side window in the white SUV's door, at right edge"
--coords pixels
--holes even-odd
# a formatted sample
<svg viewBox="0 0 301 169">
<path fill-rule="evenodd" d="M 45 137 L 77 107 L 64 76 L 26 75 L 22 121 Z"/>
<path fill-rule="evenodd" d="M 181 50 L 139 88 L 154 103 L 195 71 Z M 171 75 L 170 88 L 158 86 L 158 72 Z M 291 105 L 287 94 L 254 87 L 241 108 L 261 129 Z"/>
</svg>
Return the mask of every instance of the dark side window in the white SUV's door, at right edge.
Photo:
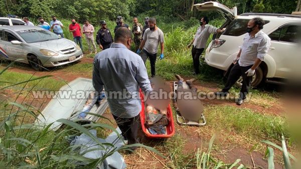
<svg viewBox="0 0 301 169">
<path fill-rule="evenodd" d="M 269 34 L 271 40 L 296 43 L 301 38 L 301 24 L 287 24 Z"/>
</svg>

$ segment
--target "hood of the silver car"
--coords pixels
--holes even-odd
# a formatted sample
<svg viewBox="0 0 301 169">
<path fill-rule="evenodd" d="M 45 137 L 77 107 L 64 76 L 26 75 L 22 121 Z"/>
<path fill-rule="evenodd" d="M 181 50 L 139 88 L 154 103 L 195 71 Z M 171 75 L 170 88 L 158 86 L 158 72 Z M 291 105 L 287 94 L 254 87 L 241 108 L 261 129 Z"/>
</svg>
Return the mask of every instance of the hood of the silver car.
<svg viewBox="0 0 301 169">
<path fill-rule="evenodd" d="M 30 43 L 31 45 L 34 45 L 39 48 L 45 48 L 52 51 L 60 51 L 63 49 L 68 49 L 72 47 L 76 47 L 75 43 L 71 40 L 68 40 L 66 38 L 59 38 L 55 40 L 49 40 L 49 41 L 42 41 L 42 42 L 35 42 Z"/>
</svg>

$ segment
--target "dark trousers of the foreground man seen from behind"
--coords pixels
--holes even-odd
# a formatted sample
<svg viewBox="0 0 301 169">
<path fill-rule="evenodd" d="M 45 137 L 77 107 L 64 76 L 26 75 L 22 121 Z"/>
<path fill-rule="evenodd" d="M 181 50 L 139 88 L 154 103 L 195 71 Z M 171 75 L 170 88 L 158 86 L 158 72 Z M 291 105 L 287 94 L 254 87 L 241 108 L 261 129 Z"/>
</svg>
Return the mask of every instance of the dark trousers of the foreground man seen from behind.
<svg viewBox="0 0 301 169">
<path fill-rule="evenodd" d="M 113 117 L 121 130 L 121 135 L 128 141 L 128 144 L 139 143 L 137 133 L 140 125 L 140 115 L 138 114 L 132 118 L 120 118 L 113 114 Z"/>
</svg>

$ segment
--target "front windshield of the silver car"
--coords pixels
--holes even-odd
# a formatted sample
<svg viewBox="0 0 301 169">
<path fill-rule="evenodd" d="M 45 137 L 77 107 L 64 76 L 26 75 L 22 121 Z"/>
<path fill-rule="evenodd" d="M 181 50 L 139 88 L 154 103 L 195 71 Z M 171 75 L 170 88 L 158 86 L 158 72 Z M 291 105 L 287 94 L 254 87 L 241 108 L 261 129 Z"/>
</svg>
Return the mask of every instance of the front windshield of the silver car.
<svg viewBox="0 0 301 169">
<path fill-rule="evenodd" d="M 20 30 L 17 33 L 27 42 L 41 42 L 60 38 L 58 35 L 48 30 L 43 29 L 31 29 L 31 30 Z"/>
</svg>

